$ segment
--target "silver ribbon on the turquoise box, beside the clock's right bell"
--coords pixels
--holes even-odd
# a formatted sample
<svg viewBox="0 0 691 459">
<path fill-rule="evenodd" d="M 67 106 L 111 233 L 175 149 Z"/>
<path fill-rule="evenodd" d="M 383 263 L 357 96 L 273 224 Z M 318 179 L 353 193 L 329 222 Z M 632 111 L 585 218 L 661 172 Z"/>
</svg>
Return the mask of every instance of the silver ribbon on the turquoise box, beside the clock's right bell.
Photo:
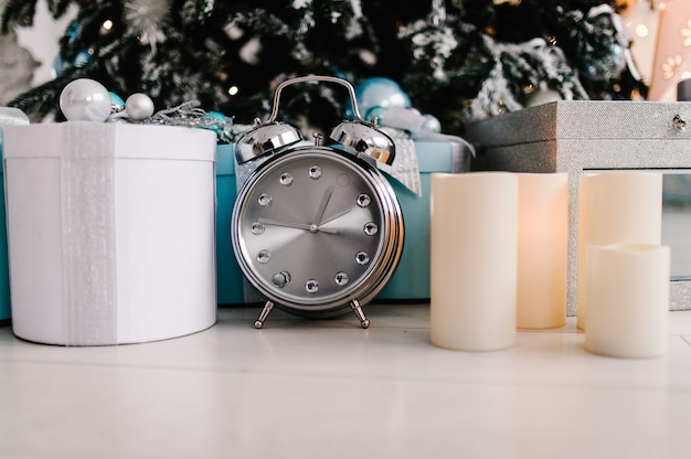
<svg viewBox="0 0 691 459">
<path fill-rule="evenodd" d="M 458 145 L 470 151 L 475 157 L 475 148 L 458 136 L 435 132 L 427 126 L 427 118 L 415 108 L 392 107 L 380 120 L 379 129 L 391 137 L 396 147 L 396 159 L 393 164 L 378 161 L 376 166 L 383 172 L 401 182 L 405 188 L 422 196 L 419 167 L 417 162 L 416 141 L 439 141 Z"/>
</svg>

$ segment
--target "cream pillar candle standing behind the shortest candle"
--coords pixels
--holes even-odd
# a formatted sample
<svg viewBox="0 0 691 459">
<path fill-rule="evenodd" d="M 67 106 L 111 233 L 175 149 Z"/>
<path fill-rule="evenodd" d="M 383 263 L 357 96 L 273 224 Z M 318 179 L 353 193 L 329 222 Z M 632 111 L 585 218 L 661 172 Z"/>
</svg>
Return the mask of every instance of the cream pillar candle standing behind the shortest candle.
<svg viewBox="0 0 691 459">
<path fill-rule="evenodd" d="M 589 309 L 587 248 L 619 243 L 660 244 L 662 174 L 645 171 L 583 174 L 578 186 L 577 327 L 585 329 Z"/>
</svg>

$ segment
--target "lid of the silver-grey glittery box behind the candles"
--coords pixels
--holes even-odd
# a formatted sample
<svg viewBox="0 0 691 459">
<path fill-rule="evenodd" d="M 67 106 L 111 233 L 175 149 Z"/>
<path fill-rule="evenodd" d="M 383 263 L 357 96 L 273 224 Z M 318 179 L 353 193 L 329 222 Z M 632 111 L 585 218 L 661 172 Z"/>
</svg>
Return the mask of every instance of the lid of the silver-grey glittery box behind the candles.
<svg viewBox="0 0 691 459">
<path fill-rule="evenodd" d="M 562 139 L 691 139 L 691 103 L 559 100 L 466 126 L 482 148 Z"/>
</svg>

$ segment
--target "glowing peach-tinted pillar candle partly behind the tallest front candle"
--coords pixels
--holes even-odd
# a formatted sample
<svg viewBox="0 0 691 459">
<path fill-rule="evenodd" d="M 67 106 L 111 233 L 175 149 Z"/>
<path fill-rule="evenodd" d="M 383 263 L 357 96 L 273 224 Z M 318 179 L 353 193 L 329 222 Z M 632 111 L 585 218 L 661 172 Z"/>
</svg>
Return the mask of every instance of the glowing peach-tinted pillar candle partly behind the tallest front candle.
<svg viewBox="0 0 691 459">
<path fill-rule="evenodd" d="M 567 173 L 519 173 L 518 310 L 520 329 L 566 321 Z"/>
</svg>

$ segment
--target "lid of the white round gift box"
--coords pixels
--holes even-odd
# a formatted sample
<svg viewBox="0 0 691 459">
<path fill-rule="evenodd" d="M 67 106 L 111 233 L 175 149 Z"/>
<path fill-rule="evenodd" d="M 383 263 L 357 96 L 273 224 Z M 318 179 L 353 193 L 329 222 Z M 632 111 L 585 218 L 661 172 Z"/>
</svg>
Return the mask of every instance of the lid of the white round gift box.
<svg viewBox="0 0 691 459">
<path fill-rule="evenodd" d="M 95 138 L 100 140 L 99 145 L 104 138 L 109 138 L 107 145 L 113 146 L 111 154 L 118 159 L 215 161 L 216 135 L 210 130 L 89 121 L 8 126 L 4 129 L 4 160 L 57 158 L 64 153 L 65 145 L 87 151 Z M 209 148 L 199 148 L 200 142 L 205 142 Z"/>
</svg>

